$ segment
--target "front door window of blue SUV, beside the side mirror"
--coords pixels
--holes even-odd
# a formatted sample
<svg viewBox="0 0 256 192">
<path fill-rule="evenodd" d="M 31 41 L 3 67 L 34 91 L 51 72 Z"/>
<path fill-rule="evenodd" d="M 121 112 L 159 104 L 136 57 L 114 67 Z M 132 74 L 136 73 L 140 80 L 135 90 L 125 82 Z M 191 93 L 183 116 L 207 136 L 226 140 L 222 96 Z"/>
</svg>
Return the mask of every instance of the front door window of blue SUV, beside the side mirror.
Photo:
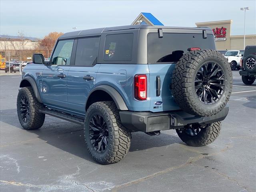
<svg viewBox="0 0 256 192">
<path fill-rule="evenodd" d="M 73 44 L 73 39 L 59 41 L 52 56 L 52 64 L 70 65 Z"/>
</svg>

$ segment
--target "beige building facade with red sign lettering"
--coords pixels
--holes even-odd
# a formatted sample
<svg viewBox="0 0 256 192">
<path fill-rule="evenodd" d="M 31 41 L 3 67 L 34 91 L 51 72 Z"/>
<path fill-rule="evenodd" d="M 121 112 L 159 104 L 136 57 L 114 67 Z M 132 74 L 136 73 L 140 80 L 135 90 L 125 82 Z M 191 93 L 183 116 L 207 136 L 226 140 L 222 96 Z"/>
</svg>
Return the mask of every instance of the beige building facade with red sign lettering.
<svg viewBox="0 0 256 192">
<path fill-rule="evenodd" d="M 244 36 L 231 35 L 232 20 L 196 23 L 198 27 L 209 27 L 214 33 L 217 50 L 243 50 Z M 245 45 L 256 45 L 256 35 L 246 35 Z"/>
</svg>

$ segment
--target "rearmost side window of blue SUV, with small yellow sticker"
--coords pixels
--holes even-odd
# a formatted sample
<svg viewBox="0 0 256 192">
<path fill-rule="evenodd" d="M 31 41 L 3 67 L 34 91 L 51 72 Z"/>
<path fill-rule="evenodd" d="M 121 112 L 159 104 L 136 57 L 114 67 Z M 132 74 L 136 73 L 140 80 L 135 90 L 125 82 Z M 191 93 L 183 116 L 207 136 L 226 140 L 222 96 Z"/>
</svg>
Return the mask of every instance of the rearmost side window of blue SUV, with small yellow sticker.
<svg viewBox="0 0 256 192">
<path fill-rule="evenodd" d="M 105 61 L 132 60 L 133 33 L 107 35 L 104 46 Z"/>
</svg>

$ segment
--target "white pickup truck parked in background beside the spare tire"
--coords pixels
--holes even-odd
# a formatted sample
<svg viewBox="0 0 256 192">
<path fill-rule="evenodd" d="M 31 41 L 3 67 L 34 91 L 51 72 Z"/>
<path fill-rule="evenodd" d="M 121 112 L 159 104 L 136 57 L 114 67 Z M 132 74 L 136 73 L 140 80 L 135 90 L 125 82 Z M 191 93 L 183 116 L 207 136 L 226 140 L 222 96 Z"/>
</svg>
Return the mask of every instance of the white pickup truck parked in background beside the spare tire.
<svg viewBox="0 0 256 192">
<path fill-rule="evenodd" d="M 242 58 L 243 55 L 244 55 L 244 50 L 232 50 L 232 51 L 227 51 L 224 56 L 228 60 L 232 70 L 236 70 L 236 68 L 239 70 L 240 59 Z"/>
</svg>

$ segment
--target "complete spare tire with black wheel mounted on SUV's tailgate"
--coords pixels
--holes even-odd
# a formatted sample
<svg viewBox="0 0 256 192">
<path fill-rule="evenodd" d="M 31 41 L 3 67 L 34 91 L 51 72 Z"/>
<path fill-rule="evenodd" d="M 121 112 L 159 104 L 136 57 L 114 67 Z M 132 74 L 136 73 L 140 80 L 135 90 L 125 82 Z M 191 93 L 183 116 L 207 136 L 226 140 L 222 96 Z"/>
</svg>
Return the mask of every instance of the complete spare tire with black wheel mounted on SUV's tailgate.
<svg viewBox="0 0 256 192">
<path fill-rule="evenodd" d="M 177 62 L 172 75 L 172 94 L 182 110 L 212 116 L 224 108 L 231 92 L 231 68 L 218 51 L 190 51 Z"/>
</svg>

